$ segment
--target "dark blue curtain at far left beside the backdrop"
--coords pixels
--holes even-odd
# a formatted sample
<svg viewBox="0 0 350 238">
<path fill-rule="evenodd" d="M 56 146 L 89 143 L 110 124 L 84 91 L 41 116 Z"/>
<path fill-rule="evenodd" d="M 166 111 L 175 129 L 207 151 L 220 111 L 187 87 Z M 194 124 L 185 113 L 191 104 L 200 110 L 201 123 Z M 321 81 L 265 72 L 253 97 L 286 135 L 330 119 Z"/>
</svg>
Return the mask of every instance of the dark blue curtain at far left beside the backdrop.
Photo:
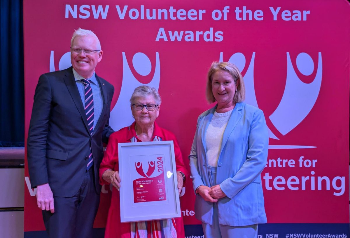
<svg viewBox="0 0 350 238">
<path fill-rule="evenodd" d="M 23 147 L 23 0 L 0 2 L 0 147 Z"/>
</svg>

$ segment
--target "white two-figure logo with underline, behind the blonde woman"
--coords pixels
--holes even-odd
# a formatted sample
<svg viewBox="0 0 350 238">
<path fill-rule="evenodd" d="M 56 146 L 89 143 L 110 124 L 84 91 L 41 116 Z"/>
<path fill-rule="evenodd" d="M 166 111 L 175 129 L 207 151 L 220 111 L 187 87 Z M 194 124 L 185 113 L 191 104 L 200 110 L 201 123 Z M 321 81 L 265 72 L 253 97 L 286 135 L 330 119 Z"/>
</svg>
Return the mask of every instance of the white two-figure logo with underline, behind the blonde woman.
<svg viewBox="0 0 350 238">
<path fill-rule="evenodd" d="M 257 98 L 255 96 L 254 88 L 254 59 L 255 52 L 252 54 L 252 59 L 249 63 L 248 69 L 244 75 L 244 82 L 246 87 L 245 102 L 258 107 Z M 223 52 L 220 53 L 219 61 L 223 61 Z M 238 69 L 242 71 L 246 65 L 245 56 L 242 53 L 233 54 L 230 63 L 236 64 Z M 314 72 L 314 62 L 307 53 L 300 53 L 296 57 L 296 67 L 305 76 L 311 75 Z M 302 82 L 292 65 L 292 61 L 287 52 L 287 79 L 284 93 L 276 110 L 269 116 L 272 124 L 282 134 L 286 135 L 293 130 L 297 125 L 304 120 L 313 108 L 318 93 L 320 92 L 322 81 L 322 57 L 321 52 L 318 53 L 318 64 L 315 79 L 311 83 Z M 279 140 L 273 132 L 268 128 L 269 137 Z M 315 148 L 314 146 L 305 145 L 270 145 L 269 148 L 291 149 L 291 148 Z"/>
</svg>

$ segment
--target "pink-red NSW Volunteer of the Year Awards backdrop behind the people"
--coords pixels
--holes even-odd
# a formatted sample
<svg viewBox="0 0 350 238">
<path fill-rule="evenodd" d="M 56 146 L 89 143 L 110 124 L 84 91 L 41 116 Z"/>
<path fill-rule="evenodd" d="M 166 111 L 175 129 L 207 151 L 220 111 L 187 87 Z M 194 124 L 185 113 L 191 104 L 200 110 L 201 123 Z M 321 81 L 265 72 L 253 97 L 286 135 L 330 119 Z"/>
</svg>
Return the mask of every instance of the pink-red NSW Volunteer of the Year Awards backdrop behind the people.
<svg viewBox="0 0 350 238">
<path fill-rule="evenodd" d="M 246 102 L 264 111 L 271 137 L 268 160 L 295 162 L 262 172 L 268 223 L 349 223 L 347 1 L 25 0 L 23 5 L 26 137 L 38 77 L 70 66 L 67 52 L 78 27 L 93 30 L 101 41 L 104 54 L 96 73 L 115 87 L 113 128 L 132 122 L 130 90 L 141 84 L 159 88 L 163 102 L 157 122 L 175 133 L 185 161 L 198 115 L 214 106 L 205 101 L 210 63 L 230 61 L 242 69 Z M 98 9 L 102 12 L 94 15 Z M 156 9 L 155 20 L 146 19 L 146 9 Z M 166 9 L 168 19 L 164 14 L 158 19 L 158 9 Z M 200 10 L 205 10 L 201 19 Z M 221 19 L 214 20 L 213 11 Z M 137 12 L 138 19 L 131 19 Z M 183 31 L 182 38 L 172 41 L 176 31 Z M 43 230 L 27 166 L 25 176 L 25 231 Z M 110 195 L 104 188 L 95 227 L 105 225 Z M 181 197 L 187 225 L 200 224 L 193 203 L 188 181 Z"/>
</svg>

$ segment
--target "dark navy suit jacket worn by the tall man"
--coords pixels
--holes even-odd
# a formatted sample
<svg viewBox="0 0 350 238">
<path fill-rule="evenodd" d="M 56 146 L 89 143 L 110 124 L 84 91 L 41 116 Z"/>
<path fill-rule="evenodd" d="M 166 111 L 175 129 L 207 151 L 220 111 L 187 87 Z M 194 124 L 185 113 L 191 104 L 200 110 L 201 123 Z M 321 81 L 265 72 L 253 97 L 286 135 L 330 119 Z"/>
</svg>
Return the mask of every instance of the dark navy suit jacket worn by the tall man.
<svg viewBox="0 0 350 238">
<path fill-rule="evenodd" d="M 103 158 L 102 142 L 107 143 L 113 132 L 108 123 L 114 88 L 97 75 L 96 78 L 103 109 L 90 136 L 72 67 L 40 76 L 27 141 L 33 188 L 49 183 L 54 196 L 74 196 L 83 182 L 91 144 L 95 188 L 97 193 L 101 191 L 98 171 Z"/>
</svg>

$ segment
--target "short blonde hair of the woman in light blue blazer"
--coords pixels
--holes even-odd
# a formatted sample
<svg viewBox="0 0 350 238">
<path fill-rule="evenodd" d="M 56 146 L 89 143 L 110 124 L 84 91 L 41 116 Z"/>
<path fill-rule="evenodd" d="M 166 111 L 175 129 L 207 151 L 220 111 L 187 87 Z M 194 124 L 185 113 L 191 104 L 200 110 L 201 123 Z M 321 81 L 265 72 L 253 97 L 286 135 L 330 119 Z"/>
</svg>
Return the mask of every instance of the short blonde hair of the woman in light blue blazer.
<svg viewBox="0 0 350 238">
<path fill-rule="evenodd" d="M 245 99 L 245 87 L 244 87 L 244 81 L 241 73 L 239 72 L 239 69 L 235 64 L 229 63 L 229 62 L 212 62 L 210 69 L 208 71 L 208 79 L 207 79 L 207 89 L 205 91 L 205 97 L 207 98 L 207 101 L 209 103 L 215 102 L 215 97 L 212 92 L 212 80 L 213 75 L 218 72 L 219 70 L 223 70 L 228 72 L 232 75 L 233 81 L 235 81 L 235 84 L 237 83 L 237 80 L 239 80 L 239 84 L 237 87 L 237 91 L 235 93 L 235 96 L 233 97 L 233 102 L 243 102 Z"/>
</svg>

